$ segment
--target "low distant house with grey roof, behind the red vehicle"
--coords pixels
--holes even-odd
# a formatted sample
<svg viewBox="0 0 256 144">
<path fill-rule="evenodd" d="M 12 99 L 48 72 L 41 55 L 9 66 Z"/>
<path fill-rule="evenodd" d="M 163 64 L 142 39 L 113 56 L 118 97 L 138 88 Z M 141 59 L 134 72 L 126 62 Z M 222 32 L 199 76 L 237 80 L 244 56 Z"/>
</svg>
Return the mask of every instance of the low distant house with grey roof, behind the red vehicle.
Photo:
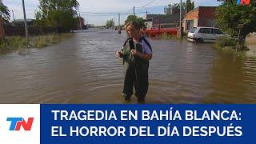
<svg viewBox="0 0 256 144">
<path fill-rule="evenodd" d="M 173 9 L 171 14 L 146 14 L 144 20 L 146 29 L 154 28 L 177 28 L 179 26 L 179 9 Z M 182 10 L 182 18 L 185 10 Z"/>
</svg>

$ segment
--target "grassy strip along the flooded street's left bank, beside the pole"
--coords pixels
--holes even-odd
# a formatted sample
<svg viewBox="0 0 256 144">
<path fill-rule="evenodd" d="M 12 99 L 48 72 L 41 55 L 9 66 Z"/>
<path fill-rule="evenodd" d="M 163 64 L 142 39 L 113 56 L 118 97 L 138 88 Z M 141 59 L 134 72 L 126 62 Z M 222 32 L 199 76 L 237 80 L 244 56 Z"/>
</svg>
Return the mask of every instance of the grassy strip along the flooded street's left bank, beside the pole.
<svg viewBox="0 0 256 144">
<path fill-rule="evenodd" d="M 36 36 L 31 38 L 31 46 L 35 48 L 43 48 L 61 42 L 72 36 L 72 33 Z M 30 42 L 27 41 L 26 38 L 20 36 L 8 37 L 4 41 L 0 40 L 0 54 L 7 54 L 15 50 L 25 50 L 29 45 Z"/>
</svg>

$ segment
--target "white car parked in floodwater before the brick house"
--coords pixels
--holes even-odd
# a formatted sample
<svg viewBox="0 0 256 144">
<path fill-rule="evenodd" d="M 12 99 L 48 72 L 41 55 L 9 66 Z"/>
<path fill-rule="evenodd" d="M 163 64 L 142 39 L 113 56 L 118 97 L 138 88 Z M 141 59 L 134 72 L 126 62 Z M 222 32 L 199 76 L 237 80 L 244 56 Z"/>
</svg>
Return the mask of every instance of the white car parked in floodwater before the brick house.
<svg viewBox="0 0 256 144">
<path fill-rule="evenodd" d="M 187 36 L 190 42 L 216 42 L 224 34 L 214 27 L 193 27 Z"/>
</svg>

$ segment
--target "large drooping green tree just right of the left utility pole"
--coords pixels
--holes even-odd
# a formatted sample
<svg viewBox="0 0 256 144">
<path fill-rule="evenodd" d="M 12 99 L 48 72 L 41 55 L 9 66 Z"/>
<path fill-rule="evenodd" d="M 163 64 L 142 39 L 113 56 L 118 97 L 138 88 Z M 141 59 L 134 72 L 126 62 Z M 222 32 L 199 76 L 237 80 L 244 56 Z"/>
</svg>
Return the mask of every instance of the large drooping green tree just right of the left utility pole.
<svg viewBox="0 0 256 144">
<path fill-rule="evenodd" d="M 77 25 L 75 18 L 79 3 L 76 0 L 39 0 L 36 12 L 36 24 L 42 26 L 62 27 L 71 30 Z"/>
</svg>

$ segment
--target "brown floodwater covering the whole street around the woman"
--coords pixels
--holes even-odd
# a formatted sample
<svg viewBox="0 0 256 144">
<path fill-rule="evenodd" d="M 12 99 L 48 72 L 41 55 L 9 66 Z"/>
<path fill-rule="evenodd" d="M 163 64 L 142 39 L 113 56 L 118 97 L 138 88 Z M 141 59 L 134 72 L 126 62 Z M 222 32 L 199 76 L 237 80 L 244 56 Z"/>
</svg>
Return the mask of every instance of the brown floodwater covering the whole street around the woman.
<svg viewBox="0 0 256 144">
<path fill-rule="evenodd" d="M 115 51 L 125 39 L 124 32 L 91 29 L 56 46 L 1 56 L 0 102 L 123 103 Z M 151 44 L 146 103 L 256 103 L 256 58 L 186 40 Z"/>
</svg>

